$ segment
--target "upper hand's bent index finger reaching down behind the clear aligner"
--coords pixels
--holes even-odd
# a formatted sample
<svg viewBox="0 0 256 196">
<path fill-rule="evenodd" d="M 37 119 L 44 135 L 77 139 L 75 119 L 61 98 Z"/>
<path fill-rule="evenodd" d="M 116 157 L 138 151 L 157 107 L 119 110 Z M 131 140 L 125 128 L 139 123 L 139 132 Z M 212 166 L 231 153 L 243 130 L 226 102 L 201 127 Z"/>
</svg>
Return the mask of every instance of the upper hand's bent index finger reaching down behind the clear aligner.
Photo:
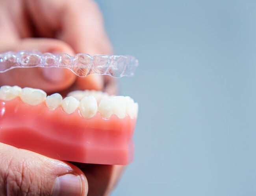
<svg viewBox="0 0 256 196">
<path fill-rule="evenodd" d="M 111 54 L 112 47 L 104 29 L 102 15 L 92 0 L 27 0 L 28 11 L 41 36 L 52 36 L 67 42 L 75 53 Z M 102 90 L 102 76 L 78 77 L 81 89 Z"/>
</svg>

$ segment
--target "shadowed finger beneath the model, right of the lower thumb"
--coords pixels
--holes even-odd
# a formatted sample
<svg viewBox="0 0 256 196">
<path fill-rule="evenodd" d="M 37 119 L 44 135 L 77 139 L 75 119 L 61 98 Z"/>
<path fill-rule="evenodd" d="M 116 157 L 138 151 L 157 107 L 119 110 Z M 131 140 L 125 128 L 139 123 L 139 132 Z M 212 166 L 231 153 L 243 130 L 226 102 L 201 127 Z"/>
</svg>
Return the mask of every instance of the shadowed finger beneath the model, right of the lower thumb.
<svg viewBox="0 0 256 196">
<path fill-rule="evenodd" d="M 71 162 L 85 174 L 90 195 L 108 195 L 115 187 L 125 166 L 124 165 L 98 165 Z"/>
</svg>

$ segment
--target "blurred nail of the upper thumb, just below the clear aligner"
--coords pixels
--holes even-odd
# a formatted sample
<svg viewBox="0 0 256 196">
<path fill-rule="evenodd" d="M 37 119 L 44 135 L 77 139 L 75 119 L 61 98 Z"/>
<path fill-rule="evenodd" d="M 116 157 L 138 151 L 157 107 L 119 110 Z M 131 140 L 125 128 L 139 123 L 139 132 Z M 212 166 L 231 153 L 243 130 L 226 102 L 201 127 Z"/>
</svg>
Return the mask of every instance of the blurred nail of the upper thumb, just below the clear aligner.
<svg viewBox="0 0 256 196">
<path fill-rule="evenodd" d="M 44 67 L 42 74 L 43 77 L 50 82 L 62 82 L 64 80 L 64 71 L 62 68 Z"/>
</svg>

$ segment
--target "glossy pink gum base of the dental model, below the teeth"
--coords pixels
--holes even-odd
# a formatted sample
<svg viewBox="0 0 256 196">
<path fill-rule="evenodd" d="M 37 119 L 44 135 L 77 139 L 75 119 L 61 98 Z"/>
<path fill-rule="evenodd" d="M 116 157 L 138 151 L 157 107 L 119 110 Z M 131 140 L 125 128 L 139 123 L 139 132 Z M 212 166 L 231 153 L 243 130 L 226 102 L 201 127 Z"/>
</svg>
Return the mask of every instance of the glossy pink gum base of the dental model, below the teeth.
<svg viewBox="0 0 256 196">
<path fill-rule="evenodd" d="M 133 159 L 135 122 L 128 115 L 107 120 L 96 113 L 86 119 L 44 103 L 0 100 L 0 142 L 58 160 L 126 165 Z"/>
</svg>

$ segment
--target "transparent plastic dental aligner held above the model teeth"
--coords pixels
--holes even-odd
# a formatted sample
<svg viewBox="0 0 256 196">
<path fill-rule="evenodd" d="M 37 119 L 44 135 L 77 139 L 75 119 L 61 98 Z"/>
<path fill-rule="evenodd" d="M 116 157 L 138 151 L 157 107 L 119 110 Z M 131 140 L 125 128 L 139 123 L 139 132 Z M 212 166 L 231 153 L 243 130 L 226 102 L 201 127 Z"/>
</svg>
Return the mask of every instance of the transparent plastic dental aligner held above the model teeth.
<svg viewBox="0 0 256 196">
<path fill-rule="evenodd" d="M 133 56 L 76 54 L 69 56 L 60 53 L 42 54 L 40 51 L 8 51 L 0 53 L 0 73 L 16 67 L 61 67 L 70 69 L 77 76 L 90 74 L 110 75 L 115 78 L 133 76 L 138 66 L 138 60 Z"/>
</svg>

